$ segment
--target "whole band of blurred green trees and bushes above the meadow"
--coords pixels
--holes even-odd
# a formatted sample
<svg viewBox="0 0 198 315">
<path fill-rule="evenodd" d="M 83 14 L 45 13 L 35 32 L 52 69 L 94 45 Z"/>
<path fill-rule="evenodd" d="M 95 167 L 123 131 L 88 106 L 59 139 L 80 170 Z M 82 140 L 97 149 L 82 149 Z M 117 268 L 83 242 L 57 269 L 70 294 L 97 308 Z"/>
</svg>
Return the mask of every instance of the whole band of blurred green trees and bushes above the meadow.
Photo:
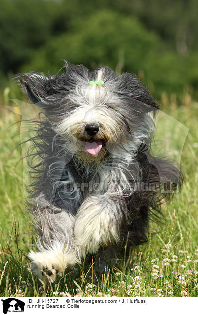
<svg viewBox="0 0 198 315">
<path fill-rule="evenodd" d="M 198 97 L 197 0 L 0 0 L 1 89 L 63 59 L 133 72 L 160 100 Z"/>
</svg>

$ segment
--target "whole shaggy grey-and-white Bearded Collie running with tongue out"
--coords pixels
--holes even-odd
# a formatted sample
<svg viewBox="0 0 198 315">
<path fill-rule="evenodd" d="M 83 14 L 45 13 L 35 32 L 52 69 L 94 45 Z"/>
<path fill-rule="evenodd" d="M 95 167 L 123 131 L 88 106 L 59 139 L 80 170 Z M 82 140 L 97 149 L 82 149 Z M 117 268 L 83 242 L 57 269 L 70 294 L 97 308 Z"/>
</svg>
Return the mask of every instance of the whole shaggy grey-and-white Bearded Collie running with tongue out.
<svg viewBox="0 0 198 315">
<path fill-rule="evenodd" d="M 100 257 L 101 271 L 126 240 L 145 241 L 149 219 L 171 195 L 164 187 L 180 181 L 177 167 L 150 153 L 159 105 L 134 74 L 65 68 L 19 75 L 44 113 L 31 137 L 29 210 L 39 236 L 29 257 L 50 282 L 88 253 Z"/>
</svg>

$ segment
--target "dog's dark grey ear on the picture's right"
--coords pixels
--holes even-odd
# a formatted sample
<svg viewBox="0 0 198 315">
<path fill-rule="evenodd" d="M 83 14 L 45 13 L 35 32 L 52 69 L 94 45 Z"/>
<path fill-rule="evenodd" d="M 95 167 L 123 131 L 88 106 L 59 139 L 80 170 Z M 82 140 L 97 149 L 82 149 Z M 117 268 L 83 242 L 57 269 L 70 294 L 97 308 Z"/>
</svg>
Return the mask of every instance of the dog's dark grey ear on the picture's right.
<svg viewBox="0 0 198 315">
<path fill-rule="evenodd" d="M 139 106 L 143 112 L 156 111 L 160 108 L 159 104 L 153 99 L 148 88 L 139 81 L 135 74 L 123 73 L 119 78 L 120 90 L 127 98 L 139 101 Z"/>
</svg>

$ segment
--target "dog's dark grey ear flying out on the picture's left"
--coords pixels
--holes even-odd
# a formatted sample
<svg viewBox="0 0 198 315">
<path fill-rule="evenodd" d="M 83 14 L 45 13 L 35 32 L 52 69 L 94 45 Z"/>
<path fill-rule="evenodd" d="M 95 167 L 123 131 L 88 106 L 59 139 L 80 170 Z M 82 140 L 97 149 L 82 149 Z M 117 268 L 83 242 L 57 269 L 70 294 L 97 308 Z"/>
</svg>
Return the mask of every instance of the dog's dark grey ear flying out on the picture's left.
<svg viewBox="0 0 198 315">
<path fill-rule="evenodd" d="M 41 108 L 47 109 L 50 96 L 58 93 L 56 80 L 42 72 L 20 74 L 17 78 L 29 99 Z"/>
</svg>

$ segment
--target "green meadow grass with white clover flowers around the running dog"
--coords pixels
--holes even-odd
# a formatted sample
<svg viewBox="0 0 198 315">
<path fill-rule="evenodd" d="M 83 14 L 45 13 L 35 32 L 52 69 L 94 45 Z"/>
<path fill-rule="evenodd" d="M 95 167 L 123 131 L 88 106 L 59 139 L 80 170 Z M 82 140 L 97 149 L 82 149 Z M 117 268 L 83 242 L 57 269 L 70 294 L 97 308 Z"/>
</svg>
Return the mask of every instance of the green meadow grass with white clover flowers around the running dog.
<svg viewBox="0 0 198 315">
<path fill-rule="evenodd" d="M 103 286 L 92 283 L 83 264 L 76 265 L 65 278 L 47 286 L 46 296 L 198 296 L 198 103 L 185 94 L 178 106 L 174 97 L 163 95 L 162 109 L 166 115 L 157 121 L 157 139 L 163 140 L 161 146 L 173 157 L 180 160 L 181 156 L 185 174 L 182 192 L 163 206 L 165 225 L 152 222 L 148 243 L 108 270 Z M 19 119 L 8 110 L 0 119 L 0 296 L 6 297 L 43 294 L 26 256 L 34 235 L 23 210 L 23 184 L 28 176 L 24 176 L 26 168 L 20 158 L 27 148 L 13 150 L 27 138 L 25 127 L 21 133 L 20 124 L 14 124 Z M 187 129 L 182 124 L 189 128 L 185 144 Z"/>
</svg>

